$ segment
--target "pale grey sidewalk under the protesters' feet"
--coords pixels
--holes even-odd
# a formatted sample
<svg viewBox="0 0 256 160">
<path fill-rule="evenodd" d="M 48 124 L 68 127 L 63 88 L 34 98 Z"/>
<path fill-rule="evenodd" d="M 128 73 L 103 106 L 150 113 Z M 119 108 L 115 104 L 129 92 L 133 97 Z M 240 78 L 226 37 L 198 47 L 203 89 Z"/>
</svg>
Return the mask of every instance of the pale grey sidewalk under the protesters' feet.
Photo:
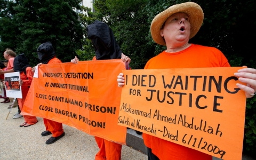
<svg viewBox="0 0 256 160">
<path fill-rule="evenodd" d="M 0 99 L 2 101 L 2 99 Z M 45 141 L 51 137 L 41 136 L 45 131 L 43 118 L 37 117 L 38 123 L 29 127 L 19 127 L 22 124 L 23 117 L 13 119 L 13 114 L 18 112 L 15 107 L 9 113 L 7 107 L 11 103 L 0 103 L 0 159 L 94 159 L 99 151 L 97 143 L 92 135 L 74 129 L 63 124 L 64 137 L 57 142 L 46 145 Z M 130 147 L 122 147 L 122 160 L 147 159 L 147 155 L 140 153 Z"/>
</svg>

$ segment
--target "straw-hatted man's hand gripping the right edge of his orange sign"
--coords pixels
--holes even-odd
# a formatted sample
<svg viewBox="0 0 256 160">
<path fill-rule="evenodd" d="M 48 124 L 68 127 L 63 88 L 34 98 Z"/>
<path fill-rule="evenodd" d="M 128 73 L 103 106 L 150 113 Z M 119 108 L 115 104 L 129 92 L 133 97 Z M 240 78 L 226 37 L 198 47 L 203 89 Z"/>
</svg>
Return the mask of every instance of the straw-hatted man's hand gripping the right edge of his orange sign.
<svg viewBox="0 0 256 160">
<path fill-rule="evenodd" d="M 256 91 L 256 69 L 253 68 L 243 68 L 239 69 L 235 76 L 239 77 L 238 80 L 240 82 L 246 83 L 247 85 L 243 85 L 237 83 L 236 85 L 239 89 L 245 92 L 247 98 L 252 98 Z"/>
</svg>

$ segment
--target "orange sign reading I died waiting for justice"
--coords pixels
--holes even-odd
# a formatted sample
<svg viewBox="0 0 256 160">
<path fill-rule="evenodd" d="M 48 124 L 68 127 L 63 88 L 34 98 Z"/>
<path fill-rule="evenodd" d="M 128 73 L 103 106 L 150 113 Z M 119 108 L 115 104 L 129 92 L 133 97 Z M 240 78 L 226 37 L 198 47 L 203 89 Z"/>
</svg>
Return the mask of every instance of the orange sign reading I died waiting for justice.
<svg viewBox="0 0 256 160">
<path fill-rule="evenodd" d="M 123 70 L 118 125 L 242 159 L 246 97 L 234 76 L 241 68 Z"/>
</svg>

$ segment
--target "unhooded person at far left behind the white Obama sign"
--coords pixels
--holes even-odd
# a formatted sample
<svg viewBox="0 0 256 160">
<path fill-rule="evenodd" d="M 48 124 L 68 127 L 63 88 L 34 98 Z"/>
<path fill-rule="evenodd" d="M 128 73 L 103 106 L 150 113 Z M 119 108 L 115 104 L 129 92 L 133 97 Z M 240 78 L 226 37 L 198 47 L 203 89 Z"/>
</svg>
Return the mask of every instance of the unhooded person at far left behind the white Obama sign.
<svg viewBox="0 0 256 160">
<path fill-rule="evenodd" d="M 5 73 L 13 73 L 14 72 L 14 70 L 13 70 L 13 61 L 14 61 L 15 57 L 16 57 L 16 53 L 13 50 L 11 50 L 9 48 L 5 49 L 4 59 L 8 60 L 8 65 L 4 70 L 2 70 L 2 69 L 0 70 L 0 75 L 5 74 Z M 14 98 L 9 98 L 9 100 L 7 100 L 6 102 L 7 103 L 8 102 L 13 102 L 13 100 L 14 100 Z M 4 103 L 6 103 L 6 102 L 4 102 Z M 21 110 L 20 110 L 20 107 L 19 107 L 18 103 L 15 102 L 13 106 L 18 106 L 18 113 L 14 114 L 14 116 L 12 118 L 17 119 L 17 118 L 22 117 L 22 115 L 20 115 Z M 10 108 L 11 108 L 11 106 L 7 107 L 7 109 L 10 109 Z"/>
</svg>

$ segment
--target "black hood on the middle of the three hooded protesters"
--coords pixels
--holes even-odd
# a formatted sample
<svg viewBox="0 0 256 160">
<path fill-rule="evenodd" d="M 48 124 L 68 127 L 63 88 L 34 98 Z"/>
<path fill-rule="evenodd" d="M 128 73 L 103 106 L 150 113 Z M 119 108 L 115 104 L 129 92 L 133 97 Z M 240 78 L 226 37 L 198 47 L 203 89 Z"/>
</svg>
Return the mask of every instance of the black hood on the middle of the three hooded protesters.
<svg viewBox="0 0 256 160">
<path fill-rule="evenodd" d="M 39 45 L 37 49 L 38 59 L 41 63 L 47 64 L 55 56 L 55 52 L 51 42 Z"/>
</svg>

